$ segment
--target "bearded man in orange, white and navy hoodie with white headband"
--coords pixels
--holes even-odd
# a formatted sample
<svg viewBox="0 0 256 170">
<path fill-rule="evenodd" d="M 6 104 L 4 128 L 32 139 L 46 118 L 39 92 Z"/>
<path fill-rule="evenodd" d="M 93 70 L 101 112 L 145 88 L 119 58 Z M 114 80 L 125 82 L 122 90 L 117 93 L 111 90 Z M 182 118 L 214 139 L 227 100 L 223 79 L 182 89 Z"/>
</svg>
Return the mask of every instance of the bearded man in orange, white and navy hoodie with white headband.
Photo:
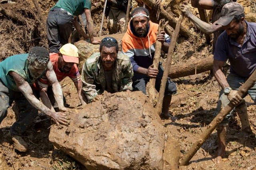
<svg viewBox="0 0 256 170">
<path fill-rule="evenodd" d="M 168 52 L 170 37 L 164 31 L 156 35 L 158 24 L 152 23 L 149 19 L 149 12 L 146 8 L 135 8 L 131 13 L 131 20 L 122 39 L 122 53 L 129 56 L 132 63 L 134 76 L 132 86 L 135 90 L 140 90 L 146 94 L 146 84 L 150 77 L 156 78 L 156 90 L 160 90 L 160 84 L 164 72 L 162 63 L 158 68 L 153 68 L 156 40 L 162 43 L 162 50 Z M 172 94 L 176 94 L 177 87 L 174 82 L 168 79 L 164 94 L 162 118 L 169 119 L 168 113 Z"/>
</svg>

